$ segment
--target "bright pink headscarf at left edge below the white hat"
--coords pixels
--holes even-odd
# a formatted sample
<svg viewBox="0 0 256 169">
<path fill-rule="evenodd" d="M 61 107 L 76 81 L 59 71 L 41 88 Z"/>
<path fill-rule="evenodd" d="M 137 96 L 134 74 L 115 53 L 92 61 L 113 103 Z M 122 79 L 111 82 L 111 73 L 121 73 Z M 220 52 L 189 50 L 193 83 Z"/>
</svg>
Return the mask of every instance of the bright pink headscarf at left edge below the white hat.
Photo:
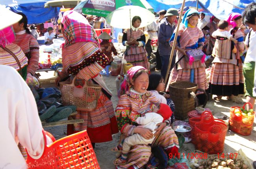
<svg viewBox="0 0 256 169">
<path fill-rule="evenodd" d="M 6 47 L 6 45 L 13 43 L 14 40 L 15 33 L 13 31 L 13 26 L 9 26 L 0 30 L 0 44 L 3 47 Z"/>
</svg>

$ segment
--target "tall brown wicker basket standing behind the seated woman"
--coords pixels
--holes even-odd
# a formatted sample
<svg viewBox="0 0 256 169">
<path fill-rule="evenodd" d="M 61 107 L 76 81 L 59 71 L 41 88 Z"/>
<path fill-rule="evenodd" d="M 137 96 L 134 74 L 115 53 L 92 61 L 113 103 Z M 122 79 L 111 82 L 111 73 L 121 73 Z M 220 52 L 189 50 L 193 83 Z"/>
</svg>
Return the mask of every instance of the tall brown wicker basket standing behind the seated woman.
<svg viewBox="0 0 256 169">
<path fill-rule="evenodd" d="M 186 119 L 188 117 L 187 113 L 198 106 L 198 99 L 195 93 L 197 93 L 197 91 L 205 93 L 203 89 L 198 89 L 197 84 L 186 81 L 171 83 L 169 85 L 169 91 L 170 98 L 175 105 L 174 116 L 176 119 L 180 120 Z M 206 102 L 203 107 L 206 105 Z"/>
</svg>

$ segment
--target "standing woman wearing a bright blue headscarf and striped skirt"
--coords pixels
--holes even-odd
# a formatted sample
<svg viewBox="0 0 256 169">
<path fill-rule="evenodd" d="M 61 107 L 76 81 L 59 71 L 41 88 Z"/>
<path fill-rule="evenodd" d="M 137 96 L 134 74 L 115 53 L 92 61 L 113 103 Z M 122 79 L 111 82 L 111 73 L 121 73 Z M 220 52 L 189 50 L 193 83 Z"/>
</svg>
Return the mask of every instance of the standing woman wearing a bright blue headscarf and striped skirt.
<svg viewBox="0 0 256 169">
<path fill-rule="evenodd" d="M 201 62 L 201 60 L 198 60 L 190 64 L 185 58 L 188 57 L 186 54 L 187 49 L 202 50 L 204 45 L 204 34 L 197 27 L 198 18 L 199 13 L 197 10 L 192 8 L 187 10 L 182 19 L 180 29 L 174 31 L 175 33 L 178 32 L 176 62 L 182 57 L 183 58 L 178 62 L 177 66 L 172 69 L 166 89 L 169 89 L 169 84 L 171 82 L 176 81 L 190 81 L 198 84 L 198 88 L 204 90 L 208 89 L 205 74 L 206 65 L 204 61 Z M 173 44 L 175 33 L 173 33 L 170 39 L 171 45 Z"/>
</svg>

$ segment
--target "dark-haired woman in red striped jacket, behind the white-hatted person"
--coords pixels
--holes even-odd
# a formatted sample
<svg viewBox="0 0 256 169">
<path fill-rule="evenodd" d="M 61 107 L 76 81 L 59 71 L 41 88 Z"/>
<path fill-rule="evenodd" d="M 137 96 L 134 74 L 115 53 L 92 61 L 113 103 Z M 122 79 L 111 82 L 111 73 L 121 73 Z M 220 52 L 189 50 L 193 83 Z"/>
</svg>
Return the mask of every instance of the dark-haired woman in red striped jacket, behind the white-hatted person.
<svg viewBox="0 0 256 169">
<path fill-rule="evenodd" d="M 39 45 L 37 40 L 33 35 L 31 35 L 29 29 L 27 28 L 28 19 L 23 13 L 17 13 L 22 16 L 22 19 L 13 24 L 13 29 L 15 31 L 16 39 L 13 43 L 20 46 L 22 51 L 28 58 L 28 73 L 32 76 L 35 75 L 35 71 L 38 69 L 39 62 Z"/>
</svg>

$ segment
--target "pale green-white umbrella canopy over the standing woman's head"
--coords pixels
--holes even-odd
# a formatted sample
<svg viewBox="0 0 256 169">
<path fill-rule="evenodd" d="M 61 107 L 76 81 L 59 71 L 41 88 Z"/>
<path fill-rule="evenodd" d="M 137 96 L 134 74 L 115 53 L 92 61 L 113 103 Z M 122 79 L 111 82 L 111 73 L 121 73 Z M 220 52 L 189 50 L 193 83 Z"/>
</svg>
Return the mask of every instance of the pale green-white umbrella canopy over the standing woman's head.
<svg viewBox="0 0 256 169">
<path fill-rule="evenodd" d="M 155 19 L 155 15 L 147 9 L 139 6 L 128 5 L 119 7 L 115 11 L 109 13 L 106 17 L 106 22 L 113 27 L 127 29 L 131 27 L 132 18 L 134 16 L 141 17 L 140 27 L 145 27 L 151 24 Z"/>
</svg>

